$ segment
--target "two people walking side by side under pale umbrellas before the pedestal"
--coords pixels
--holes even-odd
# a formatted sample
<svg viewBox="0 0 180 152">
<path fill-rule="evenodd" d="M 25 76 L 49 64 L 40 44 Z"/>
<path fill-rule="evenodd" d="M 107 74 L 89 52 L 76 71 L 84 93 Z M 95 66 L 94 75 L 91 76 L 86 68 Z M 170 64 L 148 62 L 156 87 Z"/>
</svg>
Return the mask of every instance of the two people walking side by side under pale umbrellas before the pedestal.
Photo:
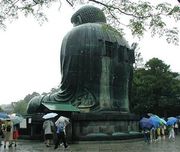
<svg viewBox="0 0 180 152">
<path fill-rule="evenodd" d="M 64 148 L 68 147 L 66 140 L 66 126 L 69 121 L 61 121 L 61 117 L 57 121 L 53 121 L 51 118 L 46 119 L 43 123 L 45 144 L 50 147 L 50 144 L 54 144 L 54 149 L 57 149 L 62 142 Z"/>
</svg>

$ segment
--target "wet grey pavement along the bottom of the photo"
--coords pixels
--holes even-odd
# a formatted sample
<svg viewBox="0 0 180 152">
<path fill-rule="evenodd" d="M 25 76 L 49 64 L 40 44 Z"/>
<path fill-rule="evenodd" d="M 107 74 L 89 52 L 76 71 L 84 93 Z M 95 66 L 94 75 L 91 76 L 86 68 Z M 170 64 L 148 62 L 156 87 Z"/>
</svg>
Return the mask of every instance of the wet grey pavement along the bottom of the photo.
<svg viewBox="0 0 180 152">
<path fill-rule="evenodd" d="M 3 142 L 2 142 L 3 143 Z M 180 135 L 175 141 L 165 140 L 147 144 L 143 139 L 115 140 L 115 141 L 86 141 L 69 144 L 68 149 L 60 146 L 46 147 L 42 141 L 19 140 L 17 147 L 0 147 L 1 152 L 180 152 Z"/>
</svg>

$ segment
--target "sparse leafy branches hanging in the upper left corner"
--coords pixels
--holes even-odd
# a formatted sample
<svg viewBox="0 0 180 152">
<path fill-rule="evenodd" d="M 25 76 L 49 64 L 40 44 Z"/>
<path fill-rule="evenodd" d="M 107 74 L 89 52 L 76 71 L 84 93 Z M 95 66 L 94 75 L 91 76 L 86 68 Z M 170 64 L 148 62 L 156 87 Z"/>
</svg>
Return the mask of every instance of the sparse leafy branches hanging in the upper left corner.
<svg viewBox="0 0 180 152">
<path fill-rule="evenodd" d="M 0 28 L 6 28 L 6 21 L 18 19 L 21 14 L 33 15 L 42 24 L 47 21 L 44 8 L 49 8 L 57 0 L 1 0 L 0 2 Z"/>
</svg>

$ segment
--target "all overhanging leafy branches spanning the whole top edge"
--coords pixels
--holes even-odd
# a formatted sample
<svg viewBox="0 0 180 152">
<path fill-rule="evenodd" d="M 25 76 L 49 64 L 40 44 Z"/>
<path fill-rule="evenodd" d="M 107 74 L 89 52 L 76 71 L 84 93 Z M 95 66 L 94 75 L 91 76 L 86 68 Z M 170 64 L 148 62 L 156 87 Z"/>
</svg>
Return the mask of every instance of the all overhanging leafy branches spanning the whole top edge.
<svg viewBox="0 0 180 152">
<path fill-rule="evenodd" d="M 1 0 L 0 27 L 6 28 L 6 21 L 17 19 L 22 13 L 25 16 L 32 14 L 40 23 L 47 21 L 46 8 L 57 0 Z M 59 6 L 63 0 L 59 0 Z M 169 3 L 152 5 L 147 0 L 135 2 L 134 0 L 66 0 L 74 7 L 78 4 L 93 4 L 102 8 L 107 21 L 121 34 L 130 29 L 133 36 L 141 38 L 144 33 L 151 30 L 152 36 L 165 36 L 168 43 L 178 44 L 178 28 L 168 27 L 167 19 L 180 20 L 180 7 Z M 125 21 L 125 22 L 124 22 Z"/>
</svg>

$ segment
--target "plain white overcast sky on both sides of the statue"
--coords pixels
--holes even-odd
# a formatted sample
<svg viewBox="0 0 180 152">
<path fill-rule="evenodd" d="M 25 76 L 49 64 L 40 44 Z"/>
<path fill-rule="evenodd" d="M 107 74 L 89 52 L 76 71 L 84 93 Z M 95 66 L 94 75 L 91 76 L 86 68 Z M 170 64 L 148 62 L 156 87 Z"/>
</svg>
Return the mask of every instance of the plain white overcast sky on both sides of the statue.
<svg viewBox="0 0 180 152">
<path fill-rule="evenodd" d="M 5 32 L 0 30 L 0 104 L 21 100 L 33 92 L 49 92 L 59 85 L 61 41 L 72 29 L 73 12 L 67 5 L 60 11 L 54 5 L 43 26 L 33 17 L 21 17 L 8 24 Z M 180 73 L 180 46 L 146 34 L 139 47 L 144 61 L 158 57 Z"/>
</svg>

